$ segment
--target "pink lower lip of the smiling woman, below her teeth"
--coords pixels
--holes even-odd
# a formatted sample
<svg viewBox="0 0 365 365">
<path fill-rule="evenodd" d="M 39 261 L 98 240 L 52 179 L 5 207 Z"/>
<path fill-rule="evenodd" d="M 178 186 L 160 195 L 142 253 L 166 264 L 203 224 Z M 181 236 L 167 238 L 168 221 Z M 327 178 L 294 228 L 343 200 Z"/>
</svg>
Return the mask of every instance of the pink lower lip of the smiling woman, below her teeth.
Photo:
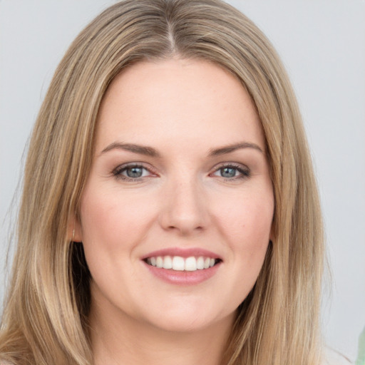
<svg viewBox="0 0 365 365">
<path fill-rule="evenodd" d="M 186 286 L 200 284 L 201 282 L 205 282 L 205 280 L 210 279 L 217 272 L 217 269 L 220 267 L 221 263 L 219 262 L 209 269 L 195 271 L 175 271 L 172 269 L 155 267 L 145 262 L 144 264 L 150 270 L 150 272 L 155 275 L 155 277 L 158 277 L 164 282 Z"/>
</svg>

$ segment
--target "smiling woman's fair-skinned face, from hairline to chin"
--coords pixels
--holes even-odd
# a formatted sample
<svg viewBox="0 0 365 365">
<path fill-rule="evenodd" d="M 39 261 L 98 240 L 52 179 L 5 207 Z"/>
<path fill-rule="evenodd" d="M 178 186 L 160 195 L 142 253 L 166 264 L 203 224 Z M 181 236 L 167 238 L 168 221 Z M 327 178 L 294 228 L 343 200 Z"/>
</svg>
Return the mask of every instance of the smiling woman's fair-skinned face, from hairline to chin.
<svg viewBox="0 0 365 365">
<path fill-rule="evenodd" d="M 239 81 L 206 61 L 131 66 L 103 99 L 76 226 L 92 314 L 167 331 L 231 323 L 273 211 L 261 124 Z"/>
</svg>

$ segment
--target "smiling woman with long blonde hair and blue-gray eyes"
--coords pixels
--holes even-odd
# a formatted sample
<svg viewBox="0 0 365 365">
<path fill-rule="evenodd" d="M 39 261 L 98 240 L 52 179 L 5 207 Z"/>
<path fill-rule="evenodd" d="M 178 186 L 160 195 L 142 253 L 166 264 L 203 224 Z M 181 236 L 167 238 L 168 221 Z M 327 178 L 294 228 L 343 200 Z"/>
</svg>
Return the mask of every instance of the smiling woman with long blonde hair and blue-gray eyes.
<svg viewBox="0 0 365 365">
<path fill-rule="evenodd" d="M 320 364 L 322 220 L 286 73 L 217 0 L 123 1 L 29 147 L 11 364 Z"/>
</svg>

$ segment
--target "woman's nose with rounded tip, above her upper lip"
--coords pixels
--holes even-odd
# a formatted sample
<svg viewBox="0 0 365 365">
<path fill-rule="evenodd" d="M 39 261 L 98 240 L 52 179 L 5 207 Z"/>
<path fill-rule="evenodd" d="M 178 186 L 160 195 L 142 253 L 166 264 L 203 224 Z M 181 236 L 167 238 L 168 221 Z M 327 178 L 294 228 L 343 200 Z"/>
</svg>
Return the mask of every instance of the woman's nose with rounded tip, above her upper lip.
<svg viewBox="0 0 365 365">
<path fill-rule="evenodd" d="M 160 225 L 164 230 L 188 236 L 202 232 L 209 224 L 207 199 L 193 178 L 169 183 L 161 204 Z"/>
</svg>

